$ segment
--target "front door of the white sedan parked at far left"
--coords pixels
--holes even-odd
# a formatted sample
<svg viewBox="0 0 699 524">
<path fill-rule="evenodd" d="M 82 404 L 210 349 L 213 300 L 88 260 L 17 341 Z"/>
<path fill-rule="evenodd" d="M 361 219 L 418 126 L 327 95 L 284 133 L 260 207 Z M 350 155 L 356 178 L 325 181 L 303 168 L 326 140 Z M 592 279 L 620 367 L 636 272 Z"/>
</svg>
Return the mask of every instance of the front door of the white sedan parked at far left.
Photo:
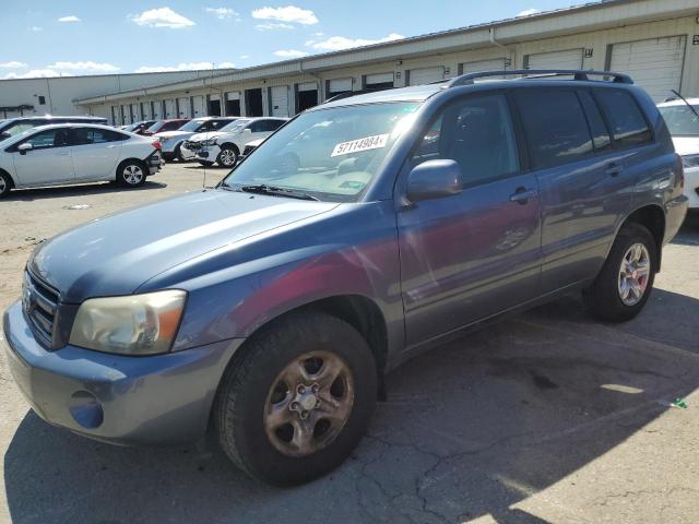
<svg viewBox="0 0 699 524">
<path fill-rule="evenodd" d="M 75 178 L 69 129 L 39 131 L 12 146 L 12 162 L 19 186 L 43 186 L 71 182 Z M 20 151 L 31 144 L 28 151 Z"/>
</svg>

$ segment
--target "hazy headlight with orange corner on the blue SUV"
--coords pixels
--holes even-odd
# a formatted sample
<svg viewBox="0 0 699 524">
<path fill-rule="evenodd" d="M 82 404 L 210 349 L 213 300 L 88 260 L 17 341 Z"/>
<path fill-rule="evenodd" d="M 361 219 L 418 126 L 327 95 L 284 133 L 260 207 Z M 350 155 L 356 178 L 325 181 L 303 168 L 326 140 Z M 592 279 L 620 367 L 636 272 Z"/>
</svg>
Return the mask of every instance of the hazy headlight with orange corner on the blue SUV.
<svg viewBox="0 0 699 524">
<path fill-rule="evenodd" d="M 121 355 L 167 353 L 182 317 L 187 293 L 179 289 L 90 298 L 78 310 L 70 344 Z"/>
</svg>

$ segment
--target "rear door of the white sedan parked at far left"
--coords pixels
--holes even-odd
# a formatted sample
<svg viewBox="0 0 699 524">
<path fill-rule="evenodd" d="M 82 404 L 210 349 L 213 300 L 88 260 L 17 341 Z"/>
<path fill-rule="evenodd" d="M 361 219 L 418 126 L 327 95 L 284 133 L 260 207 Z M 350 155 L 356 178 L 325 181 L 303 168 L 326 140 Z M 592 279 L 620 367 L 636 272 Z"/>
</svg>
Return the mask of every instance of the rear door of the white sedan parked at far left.
<svg viewBox="0 0 699 524">
<path fill-rule="evenodd" d="M 129 136 L 99 128 L 72 128 L 75 180 L 114 178 L 121 156 L 121 144 Z"/>
</svg>

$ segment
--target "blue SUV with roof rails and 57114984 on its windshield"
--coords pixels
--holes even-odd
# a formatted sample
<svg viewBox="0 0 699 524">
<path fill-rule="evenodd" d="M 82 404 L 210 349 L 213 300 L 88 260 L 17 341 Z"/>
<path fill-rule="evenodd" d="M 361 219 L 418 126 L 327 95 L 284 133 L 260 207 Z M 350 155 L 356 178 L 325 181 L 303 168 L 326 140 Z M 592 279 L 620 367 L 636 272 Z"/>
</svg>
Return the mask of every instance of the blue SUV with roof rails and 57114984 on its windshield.
<svg viewBox="0 0 699 524">
<path fill-rule="evenodd" d="M 687 209 L 663 118 L 624 74 L 502 74 L 329 102 L 213 190 L 42 243 L 4 314 L 35 412 L 125 444 L 211 428 L 297 484 L 448 337 L 573 291 L 633 318 Z"/>
</svg>

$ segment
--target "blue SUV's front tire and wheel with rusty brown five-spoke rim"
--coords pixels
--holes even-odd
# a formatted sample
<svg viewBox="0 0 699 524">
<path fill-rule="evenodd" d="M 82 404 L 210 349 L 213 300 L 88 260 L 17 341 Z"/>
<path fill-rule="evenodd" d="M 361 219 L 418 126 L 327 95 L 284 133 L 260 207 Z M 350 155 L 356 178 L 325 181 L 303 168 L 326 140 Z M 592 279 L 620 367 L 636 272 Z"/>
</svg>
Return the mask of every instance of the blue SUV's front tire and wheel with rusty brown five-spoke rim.
<svg viewBox="0 0 699 524">
<path fill-rule="evenodd" d="M 377 370 L 364 337 L 320 312 L 288 314 L 234 357 L 214 406 L 221 446 L 248 475 L 288 486 L 337 467 L 364 434 Z"/>
</svg>

